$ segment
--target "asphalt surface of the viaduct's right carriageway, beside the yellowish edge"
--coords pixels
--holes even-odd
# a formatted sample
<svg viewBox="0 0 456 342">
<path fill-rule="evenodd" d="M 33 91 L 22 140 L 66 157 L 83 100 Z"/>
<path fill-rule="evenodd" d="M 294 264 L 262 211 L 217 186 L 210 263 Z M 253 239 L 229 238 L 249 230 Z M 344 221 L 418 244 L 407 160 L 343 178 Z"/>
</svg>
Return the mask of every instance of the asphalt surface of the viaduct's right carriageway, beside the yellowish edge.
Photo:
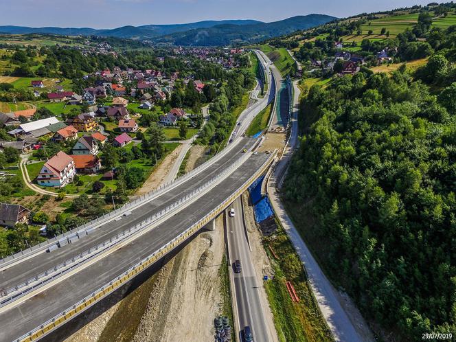
<svg viewBox="0 0 456 342">
<path fill-rule="evenodd" d="M 265 154 L 252 155 L 248 162 L 242 164 L 207 194 L 198 198 L 198 201 L 171 216 L 141 238 L 122 248 L 113 249 L 109 255 L 95 264 L 81 267 L 76 275 L 62 279 L 51 288 L 22 301 L 14 308 L 4 311 L 0 309 L 0 341 L 12 341 L 40 326 L 157 251 L 228 198 L 233 190 L 247 181 L 268 157 L 269 155 Z"/>
</svg>

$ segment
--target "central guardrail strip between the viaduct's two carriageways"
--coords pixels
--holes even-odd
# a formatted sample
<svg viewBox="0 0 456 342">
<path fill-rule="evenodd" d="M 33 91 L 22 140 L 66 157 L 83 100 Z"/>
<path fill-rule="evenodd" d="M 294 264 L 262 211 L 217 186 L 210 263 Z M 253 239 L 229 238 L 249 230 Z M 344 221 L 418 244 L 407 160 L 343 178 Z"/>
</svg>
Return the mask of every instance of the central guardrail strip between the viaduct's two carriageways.
<svg viewBox="0 0 456 342">
<path fill-rule="evenodd" d="M 163 216 L 166 216 L 166 214 L 174 211 L 174 209 L 176 209 L 177 207 L 181 207 L 181 205 L 183 205 L 183 203 L 186 203 L 191 198 L 193 198 L 197 194 L 200 194 L 201 192 L 206 190 L 208 187 L 210 187 L 212 184 L 216 183 L 216 181 L 223 178 L 223 176 L 225 176 L 226 174 L 231 172 L 231 170 L 236 168 L 240 163 L 242 163 L 248 157 L 249 157 L 248 155 L 244 155 L 244 156 L 238 158 L 228 168 L 226 168 L 225 170 L 223 170 L 222 172 L 217 174 L 217 176 L 213 177 L 212 179 L 207 181 L 207 183 L 201 185 L 200 187 L 198 187 L 196 190 L 194 190 L 190 194 L 187 194 L 186 196 L 179 198 L 179 200 L 175 201 L 171 205 L 168 205 L 168 207 L 166 207 L 165 209 L 162 209 L 159 213 L 146 218 L 145 220 L 141 221 L 141 223 L 138 223 L 134 227 L 130 227 L 120 233 L 117 233 L 117 235 L 114 238 L 105 240 L 104 242 L 97 244 L 95 247 L 92 247 L 92 248 L 87 249 L 86 251 L 80 253 L 78 256 L 73 257 L 69 260 L 65 260 L 65 262 L 62 262 L 62 263 L 58 264 L 57 266 L 54 266 L 52 269 L 49 269 L 43 273 L 35 275 L 34 277 L 31 277 L 29 280 L 26 280 L 25 282 L 23 282 L 19 285 L 9 288 L 8 290 L 0 291 L 0 308 L 2 306 L 5 306 L 6 304 L 9 304 L 14 299 L 17 299 L 17 298 L 29 293 L 34 288 L 43 286 L 47 282 L 54 280 L 56 277 L 60 277 L 61 275 L 68 273 L 69 271 L 75 269 L 76 267 L 80 266 L 81 264 L 84 264 L 85 262 L 91 260 L 95 255 L 99 255 L 106 249 L 111 249 L 111 247 L 113 247 L 115 244 L 121 242 L 122 240 L 125 240 L 126 238 L 129 238 L 134 233 L 137 233 L 138 231 L 141 231 L 142 229 L 148 227 L 151 223 L 154 223 L 155 221 L 159 220 Z M 85 231 L 83 236 L 78 236 L 77 233 L 74 233 L 73 236 L 71 236 L 71 237 L 75 237 L 75 238 L 77 237 L 77 239 L 79 240 L 80 238 L 88 235 L 87 232 L 88 231 Z M 68 240 L 70 240 L 70 238 L 68 238 Z M 67 241 L 66 243 L 71 243 L 71 242 Z"/>
</svg>

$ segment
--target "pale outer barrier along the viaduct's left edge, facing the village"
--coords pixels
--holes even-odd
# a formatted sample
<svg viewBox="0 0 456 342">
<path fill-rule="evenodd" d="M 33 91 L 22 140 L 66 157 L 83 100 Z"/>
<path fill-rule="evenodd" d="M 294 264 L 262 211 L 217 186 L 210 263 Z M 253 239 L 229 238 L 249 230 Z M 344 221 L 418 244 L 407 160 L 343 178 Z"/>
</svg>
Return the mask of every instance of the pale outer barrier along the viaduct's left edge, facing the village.
<svg viewBox="0 0 456 342">
<path fill-rule="evenodd" d="M 139 198 L 136 198 L 134 201 L 125 203 L 122 207 L 119 207 L 119 208 L 113 210 L 112 212 L 109 212 L 107 214 L 104 214 L 103 216 L 95 218 L 95 219 L 89 221 L 88 223 L 84 223 L 84 225 L 81 225 L 74 229 L 70 229 L 69 231 L 62 233 L 59 236 L 54 236 L 54 238 L 50 238 L 49 240 L 46 240 L 45 242 L 39 242 L 38 244 L 36 244 L 28 249 L 24 249 L 23 251 L 19 251 L 18 253 L 8 255 L 5 258 L 1 258 L 1 262 L 2 262 L 1 265 L 3 266 L 10 262 L 14 262 L 15 260 L 24 258 L 27 255 L 32 254 L 32 252 L 36 252 L 38 250 L 43 251 L 43 250 L 47 249 L 49 246 L 51 246 L 52 244 L 56 244 L 56 242 L 58 242 L 58 240 L 61 240 L 62 238 L 65 238 L 67 236 L 72 236 L 74 233 L 82 233 L 83 231 L 85 231 L 89 228 L 102 224 L 103 223 L 102 221 L 109 220 L 115 216 L 122 215 L 122 213 L 126 212 L 127 209 L 131 209 L 132 207 L 136 207 L 139 204 L 150 201 L 151 198 L 154 198 L 155 196 L 157 196 L 157 194 L 163 192 L 164 190 L 168 190 L 171 187 L 175 187 L 175 186 L 179 185 L 180 183 L 187 181 L 187 179 L 192 178 L 194 175 L 198 174 L 202 170 L 209 168 L 209 166 L 212 166 L 212 164 L 216 163 L 216 161 L 218 161 L 224 155 L 226 155 L 227 152 L 229 152 L 229 150 L 231 150 L 231 149 L 225 148 L 222 152 L 220 152 L 218 155 L 216 155 L 216 157 L 210 159 L 206 163 L 203 163 L 201 166 L 194 168 L 194 170 L 187 172 L 183 176 L 177 177 L 176 179 L 174 179 L 174 181 L 170 181 L 166 184 L 161 185 L 157 189 L 152 190 L 151 192 L 148 192 L 147 194 L 139 196 Z"/>
</svg>

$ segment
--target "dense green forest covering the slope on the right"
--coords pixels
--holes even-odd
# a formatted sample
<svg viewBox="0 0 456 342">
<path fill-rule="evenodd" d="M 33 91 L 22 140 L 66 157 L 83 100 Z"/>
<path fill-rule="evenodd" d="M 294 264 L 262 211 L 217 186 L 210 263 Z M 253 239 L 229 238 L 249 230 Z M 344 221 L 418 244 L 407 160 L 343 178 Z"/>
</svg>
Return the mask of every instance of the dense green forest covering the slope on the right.
<svg viewBox="0 0 456 342">
<path fill-rule="evenodd" d="M 413 75 L 405 66 L 391 75 L 363 68 L 310 88 L 305 135 L 285 183 L 326 273 L 395 341 L 456 328 L 450 32 Z"/>
</svg>

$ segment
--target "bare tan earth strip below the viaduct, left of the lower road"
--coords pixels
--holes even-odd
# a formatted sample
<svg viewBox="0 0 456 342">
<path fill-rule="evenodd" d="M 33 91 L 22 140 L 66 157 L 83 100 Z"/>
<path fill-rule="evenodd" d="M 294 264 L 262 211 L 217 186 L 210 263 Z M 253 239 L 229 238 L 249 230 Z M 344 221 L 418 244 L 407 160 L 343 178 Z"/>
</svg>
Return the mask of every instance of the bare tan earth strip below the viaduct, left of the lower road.
<svg viewBox="0 0 456 342">
<path fill-rule="evenodd" d="M 133 341 L 212 341 L 224 250 L 220 216 L 215 231 L 200 233 L 168 262 L 169 275 L 152 291 Z"/>
</svg>

